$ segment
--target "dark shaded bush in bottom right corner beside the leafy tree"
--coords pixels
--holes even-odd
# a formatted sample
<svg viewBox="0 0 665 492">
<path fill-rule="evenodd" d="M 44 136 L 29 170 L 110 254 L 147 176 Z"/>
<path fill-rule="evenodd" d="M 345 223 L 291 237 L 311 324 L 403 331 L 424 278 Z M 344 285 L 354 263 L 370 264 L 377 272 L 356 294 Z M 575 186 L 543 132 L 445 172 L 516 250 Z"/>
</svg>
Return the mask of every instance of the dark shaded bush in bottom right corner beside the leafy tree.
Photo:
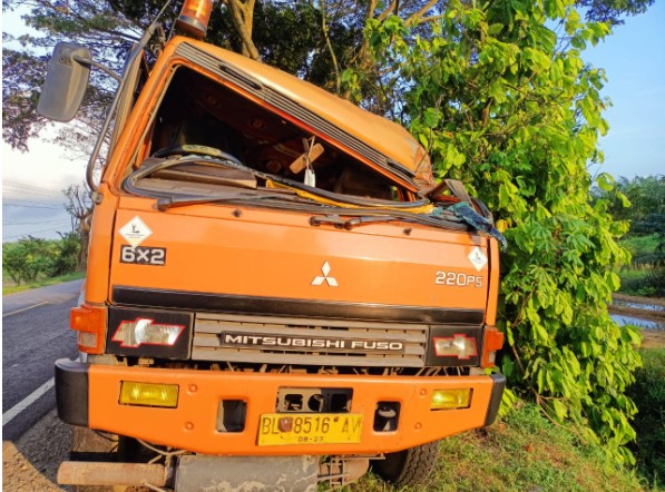
<svg viewBox="0 0 665 492">
<path fill-rule="evenodd" d="M 626 392 L 637 405 L 632 445 L 639 473 L 655 489 L 665 485 L 665 348 L 642 351 L 643 367 Z"/>
</svg>

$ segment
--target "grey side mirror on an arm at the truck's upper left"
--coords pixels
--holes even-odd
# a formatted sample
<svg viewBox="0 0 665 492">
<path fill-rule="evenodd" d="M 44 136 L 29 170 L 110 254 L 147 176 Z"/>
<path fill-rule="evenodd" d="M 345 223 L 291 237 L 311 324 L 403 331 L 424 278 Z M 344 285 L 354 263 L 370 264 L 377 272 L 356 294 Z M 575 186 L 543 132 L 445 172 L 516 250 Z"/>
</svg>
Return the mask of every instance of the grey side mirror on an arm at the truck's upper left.
<svg viewBox="0 0 665 492">
<path fill-rule="evenodd" d="M 37 112 L 56 121 L 71 120 L 84 100 L 91 62 L 88 48 L 71 42 L 56 45 Z"/>
</svg>

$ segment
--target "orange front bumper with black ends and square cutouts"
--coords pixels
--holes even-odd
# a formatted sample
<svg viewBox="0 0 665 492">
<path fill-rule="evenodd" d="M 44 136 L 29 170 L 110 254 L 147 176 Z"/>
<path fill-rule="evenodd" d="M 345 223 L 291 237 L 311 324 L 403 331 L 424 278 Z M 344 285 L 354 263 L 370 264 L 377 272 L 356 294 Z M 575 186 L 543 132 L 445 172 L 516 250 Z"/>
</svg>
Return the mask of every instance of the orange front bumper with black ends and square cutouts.
<svg viewBox="0 0 665 492">
<path fill-rule="evenodd" d="M 177 407 L 119 404 L 123 381 L 177 384 Z M 300 375 L 87 365 L 69 360 L 56 363 L 58 414 L 65 422 L 192 452 L 226 455 L 373 454 L 400 451 L 491 424 L 505 382 L 502 375 Z M 351 413 L 365 415 L 361 442 L 258 446 L 260 416 L 275 413 L 276 395 L 281 387 L 352 388 Z M 470 407 L 430 410 L 432 391 L 466 387 L 472 390 Z M 222 400 L 246 402 L 242 432 L 216 430 L 217 409 Z M 382 401 L 400 403 L 395 431 L 376 432 L 373 429 L 376 403 Z"/>
</svg>

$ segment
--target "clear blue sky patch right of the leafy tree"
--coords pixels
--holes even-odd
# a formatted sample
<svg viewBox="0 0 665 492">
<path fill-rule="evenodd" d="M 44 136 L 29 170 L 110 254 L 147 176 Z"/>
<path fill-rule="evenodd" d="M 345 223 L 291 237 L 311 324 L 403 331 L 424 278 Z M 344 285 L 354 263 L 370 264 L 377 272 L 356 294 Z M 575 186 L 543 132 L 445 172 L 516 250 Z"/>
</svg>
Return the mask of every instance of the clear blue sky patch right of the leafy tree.
<svg viewBox="0 0 665 492">
<path fill-rule="evenodd" d="M 605 69 L 602 94 L 613 102 L 604 115 L 609 131 L 600 139 L 599 170 L 626 178 L 665 175 L 665 2 L 627 18 L 583 57 Z"/>
</svg>

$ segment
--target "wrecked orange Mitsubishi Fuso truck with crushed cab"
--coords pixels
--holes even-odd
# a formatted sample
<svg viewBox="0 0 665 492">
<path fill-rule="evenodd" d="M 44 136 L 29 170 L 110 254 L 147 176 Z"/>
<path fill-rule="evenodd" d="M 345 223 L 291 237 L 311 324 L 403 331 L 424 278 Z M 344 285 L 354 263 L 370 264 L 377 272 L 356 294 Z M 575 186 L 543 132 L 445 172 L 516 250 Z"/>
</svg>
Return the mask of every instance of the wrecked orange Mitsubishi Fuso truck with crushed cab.
<svg viewBox="0 0 665 492">
<path fill-rule="evenodd" d="M 401 126 L 204 42 L 209 11 L 188 0 L 185 36 L 150 58 L 155 21 L 116 76 L 88 167 L 81 356 L 56 363 L 58 480 L 421 482 L 438 441 L 501 401 L 502 237 Z M 38 111 L 71 119 L 91 67 L 58 45 Z"/>
</svg>

